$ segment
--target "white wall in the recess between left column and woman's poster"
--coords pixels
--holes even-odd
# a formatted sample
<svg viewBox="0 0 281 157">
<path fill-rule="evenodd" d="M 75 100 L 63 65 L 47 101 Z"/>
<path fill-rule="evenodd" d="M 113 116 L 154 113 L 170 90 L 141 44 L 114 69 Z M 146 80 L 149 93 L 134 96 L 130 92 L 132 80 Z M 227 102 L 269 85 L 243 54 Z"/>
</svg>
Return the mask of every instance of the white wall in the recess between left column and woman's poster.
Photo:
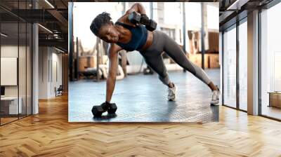
<svg viewBox="0 0 281 157">
<path fill-rule="evenodd" d="M 55 48 L 39 47 L 39 99 L 55 97 L 55 87 L 61 84 L 62 55 Z"/>
</svg>

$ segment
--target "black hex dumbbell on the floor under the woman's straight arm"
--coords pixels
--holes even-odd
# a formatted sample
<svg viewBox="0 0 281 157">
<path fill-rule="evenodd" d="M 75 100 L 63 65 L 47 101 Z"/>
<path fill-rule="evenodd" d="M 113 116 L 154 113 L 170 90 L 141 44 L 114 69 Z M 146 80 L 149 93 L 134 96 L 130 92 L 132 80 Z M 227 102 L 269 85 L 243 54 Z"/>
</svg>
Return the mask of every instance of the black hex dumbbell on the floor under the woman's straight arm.
<svg viewBox="0 0 281 157">
<path fill-rule="evenodd" d="M 93 106 L 92 114 L 95 117 L 99 117 L 105 111 L 107 111 L 108 114 L 115 114 L 116 110 L 117 110 L 117 105 L 115 103 L 103 102 L 103 104 L 100 104 L 98 106 Z"/>
</svg>

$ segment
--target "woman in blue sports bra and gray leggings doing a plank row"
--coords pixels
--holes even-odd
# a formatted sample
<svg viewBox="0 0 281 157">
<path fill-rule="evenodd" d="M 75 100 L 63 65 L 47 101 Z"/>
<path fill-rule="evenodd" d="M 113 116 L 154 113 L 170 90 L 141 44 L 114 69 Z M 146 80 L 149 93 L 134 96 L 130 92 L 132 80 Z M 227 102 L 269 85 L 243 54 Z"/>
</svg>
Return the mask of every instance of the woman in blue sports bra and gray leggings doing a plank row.
<svg viewBox="0 0 281 157">
<path fill-rule="evenodd" d="M 165 51 L 177 64 L 185 70 L 190 71 L 193 75 L 206 83 L 213 91 L 211 104 L 218 104 L 219 90 L 211 82 L 207 74 L 197 65 L 188 60 L 183 50 L 178 46 L 176 41 L 159 31 L 148 31 L 143 25 L 133 25 L 129 21 L 129 14 L 133 11 L 145 14 L 145 9 L 141 4 L 134 4 L 125 15 L 113 24 L 110 14 L 101 13 L 91 23 L 91 31 L 103 41 L 110 43 L 108 56 L 110 59 L 109 76 L 106 82 L 106 101 L 110 103 L 118 65 L 119 50 L 138 50 L 143 55 L 145 62 L 159 75 L 159 79 L 168 86 L 168 100 L 176 99 L 176 86 L 169 79 L 166 72 L 161 53 Z"/>
</svg>

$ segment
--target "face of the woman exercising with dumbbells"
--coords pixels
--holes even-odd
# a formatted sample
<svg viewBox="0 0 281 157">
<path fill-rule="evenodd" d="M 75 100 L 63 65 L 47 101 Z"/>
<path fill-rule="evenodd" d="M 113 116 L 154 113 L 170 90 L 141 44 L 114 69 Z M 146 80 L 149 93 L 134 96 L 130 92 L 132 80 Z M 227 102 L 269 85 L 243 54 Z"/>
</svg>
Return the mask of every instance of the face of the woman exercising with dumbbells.
<svg viewBox="0 0 281 157">
<path fill-rule="evenodd" d="M 119 40 L 117 29 L 114 25 L 107 24 L 103 27 L 100 27 L 100 31 L 98 32 L 98 37 L 107 43 L 117 43 Z"/>
</svg>

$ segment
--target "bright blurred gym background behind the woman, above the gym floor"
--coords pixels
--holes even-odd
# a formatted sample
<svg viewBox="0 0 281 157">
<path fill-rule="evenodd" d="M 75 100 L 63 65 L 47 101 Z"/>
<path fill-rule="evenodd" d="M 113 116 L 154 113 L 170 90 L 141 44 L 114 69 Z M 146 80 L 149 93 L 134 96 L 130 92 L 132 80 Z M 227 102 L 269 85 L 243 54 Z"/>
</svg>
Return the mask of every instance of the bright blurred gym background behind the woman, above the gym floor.
<svg viewBox="0 0 281 157">
<path fill-rule="evenodd" d="M 73 3 L 70 27 L 70 81 L 105 78 L 103 65 L 107 64 L 108 44 L 98 39 L 89 29 L 93 18 L 103 11 L 116 22 L 133 2 Z M 219 68 L 218 56 L 218 3 L 141 2 L 148 17 L 157 22 L 161 30 L 174 39 L 187 57 L 203 69 Z M 203 22 L 202 22 L 203 21 Z M 69 20 L 71 22 L 71 20 Z M 201 35 L 203 32 L 203 36 Z M 202 39 L 204 44 L 202 45 Z M 163 53 L 168 71 L 182 70 Z M 98 59 L 97 59 L 98 58 Z M 124 76 L 152 74 L 139 53 L 119 54 L 119 65 Z M 97 72 L 98 67 L 98 72 Z M 121 69 L 120 69 L 121 70 Z M 121 76 L 122 77 L 122 76 Z"/>
</svg>

